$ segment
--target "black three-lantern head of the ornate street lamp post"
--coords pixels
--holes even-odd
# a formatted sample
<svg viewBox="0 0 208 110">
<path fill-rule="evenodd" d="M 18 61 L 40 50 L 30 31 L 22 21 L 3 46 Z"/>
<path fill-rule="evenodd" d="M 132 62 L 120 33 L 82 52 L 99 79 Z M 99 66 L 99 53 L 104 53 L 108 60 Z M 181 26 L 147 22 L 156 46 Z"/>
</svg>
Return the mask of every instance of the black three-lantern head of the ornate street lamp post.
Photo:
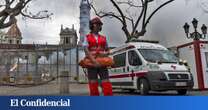
<svg viewBox="0 0 208 110">
<path fill-rule="evenodd" d="M 185 25 L 183 26 L 184 31 L 186 33 L 186 37 L 188 39 L 194 39 L 194 40 L 205 39 L 206 35 L 207 35 L 207 27 L 205 26 L 205 24 L 203 24 L 202 27 L 201 27 L 202 34 L 200 34 L 197 31 L 197 25 L 198 25 L 197 19 L 194 18 L 193 21 L 192 21 L 192 24 L 193 24 L 193 27 L 194 27 L 194 32 L 192 32 L 190 34 L 189 34 L 189 27 L 190 27 L 189 24 L 185 23 Z"/>
</svg>

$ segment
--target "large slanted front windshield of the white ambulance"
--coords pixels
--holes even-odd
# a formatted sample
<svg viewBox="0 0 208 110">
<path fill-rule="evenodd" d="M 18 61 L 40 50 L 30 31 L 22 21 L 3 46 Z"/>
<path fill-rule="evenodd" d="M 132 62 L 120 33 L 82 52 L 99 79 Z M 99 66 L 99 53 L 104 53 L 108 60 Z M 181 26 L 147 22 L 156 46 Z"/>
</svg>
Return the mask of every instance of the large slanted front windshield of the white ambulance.
<svg viewBox="0 0 208 110">
<path fill-rule="evenodd" d="M 169 50 L 138 49 L 145 60 L 153 63 L 177 63 L 178 58 Z"/>
</svg>

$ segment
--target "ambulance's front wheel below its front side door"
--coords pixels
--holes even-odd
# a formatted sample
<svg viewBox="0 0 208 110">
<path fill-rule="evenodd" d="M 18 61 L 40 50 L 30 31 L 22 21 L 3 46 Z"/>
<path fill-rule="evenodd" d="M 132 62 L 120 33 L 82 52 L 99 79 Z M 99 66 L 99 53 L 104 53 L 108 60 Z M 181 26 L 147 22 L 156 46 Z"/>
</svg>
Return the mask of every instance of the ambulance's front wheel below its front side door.
<svg viewBox="0 0 208 110">
<path fill-rule="evenodd" d="M 146 79 L 139 80 L 139 90 L 141 95 L 148 95 L 149 93 L 149 83 Z"/>
</svg>

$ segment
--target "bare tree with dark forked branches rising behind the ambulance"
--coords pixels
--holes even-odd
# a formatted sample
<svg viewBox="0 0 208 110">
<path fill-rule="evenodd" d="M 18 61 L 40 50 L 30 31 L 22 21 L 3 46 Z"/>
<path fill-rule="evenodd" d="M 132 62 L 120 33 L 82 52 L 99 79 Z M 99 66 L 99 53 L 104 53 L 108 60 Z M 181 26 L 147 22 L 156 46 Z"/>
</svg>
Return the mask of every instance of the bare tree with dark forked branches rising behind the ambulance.
<svg viewBox="0 0 208 110">
<path fill-rule="evenodd" d="M 152 12 L 149 12 L 149 4 L 154 0 L 109 0 L 113 5 L 113 11 L 98 10 L 95 7 L 93 1 L 90 3 L 95 14 L 101 18 L 110 17 L 115 18 L 122 24 L 122 31 L 125 33 L 126 42 L 132 39 L 137 39 L 146 33 L 146 27 L 150 19 L 158 12 L 162 7 L 175 1 L 168 0 L 159 5 Z M 124 9 L 125 8 L 125 9 Z M 110 9 L 110 8 L 109 8 Z M 134 11 L 131 11 L 134 10 Z M 132 13 L 136 12 L 136 13 Z M 148 13 L 148 14 L 147 14 Z M 130 22 L 130 23 L 129 23 Z M 131 27 L 128 27 L 128 26 Z M 141 25 L 139 27 L 139 25 Z M 141 28 L 138 31 L 138 28 Z M 131 29 L 131 31 L 130 31 Z"/>
</svg>

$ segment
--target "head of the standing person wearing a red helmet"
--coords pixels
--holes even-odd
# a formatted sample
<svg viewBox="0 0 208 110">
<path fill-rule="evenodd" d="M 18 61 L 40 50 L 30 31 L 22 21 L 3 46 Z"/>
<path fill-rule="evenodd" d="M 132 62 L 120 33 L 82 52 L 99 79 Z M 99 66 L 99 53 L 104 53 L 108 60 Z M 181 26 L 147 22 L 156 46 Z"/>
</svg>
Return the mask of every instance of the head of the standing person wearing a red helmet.
<svg viewBox="0 0 208 110">
<path fill-rule="evenodd" d="M 91 32 L 99 32 L 102 30 L 102 25 L 103 25 L 103 23 L 100 20 L 100 18 L 95 17 L 90 20 L 89 28 L 90 28 Z"/>
</svg>

